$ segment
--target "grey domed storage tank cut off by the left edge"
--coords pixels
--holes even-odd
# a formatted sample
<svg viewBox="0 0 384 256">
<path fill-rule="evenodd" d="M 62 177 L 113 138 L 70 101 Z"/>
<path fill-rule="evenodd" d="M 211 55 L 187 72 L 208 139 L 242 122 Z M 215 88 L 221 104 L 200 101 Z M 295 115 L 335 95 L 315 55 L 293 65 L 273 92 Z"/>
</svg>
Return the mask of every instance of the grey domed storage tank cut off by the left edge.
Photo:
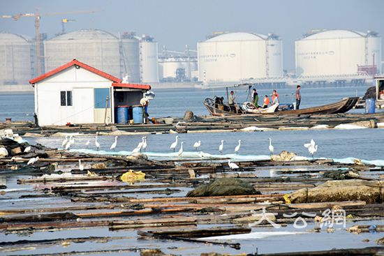
<svg viewBox="0 0 384 256">
<path fill-rule="evenodd" d="M 14 33 L 0 33 L 0 84 L 28 84 L 32 44 Z"/>
</svg>

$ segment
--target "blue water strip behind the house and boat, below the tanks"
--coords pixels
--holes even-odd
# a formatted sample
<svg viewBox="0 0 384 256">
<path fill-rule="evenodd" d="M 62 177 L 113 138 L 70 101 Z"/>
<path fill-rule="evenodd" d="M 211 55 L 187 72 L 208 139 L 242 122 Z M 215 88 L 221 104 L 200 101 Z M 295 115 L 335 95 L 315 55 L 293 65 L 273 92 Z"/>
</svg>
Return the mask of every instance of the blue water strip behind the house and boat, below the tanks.
<svg viewBox="0 0 384 256">
<path fill-rule="evenodd" d="M 248 87 L 228 88 L 235 91 L 237 103 L 249 100 Z M 313 107 L 334 103 L 341 98 L 363 96 L 367 86 L 358 87 L 327 87 L 327 88 L 303 88 L 301 108 Z M 149 114 L 152 117 L 181 117 L 186 110 L 191 110 L 196 115 L 209 114 L 202 105 L 205 98 L 223 96 L 226 99 L 226 89 L 156 89 L 156 97 L 149 103 Z M 295 89 L 278 89 L 280 103 L 293 103 L 295 101 Z M 258 89 L 260 104 L 265 95 L 270 96 L 272 89 Z M 58 96 L 59 97 L 59 96 Z M 269 97 L 270 98 L 270 97 Z M 59 100 L 59 98 L 57 98 Z M 226 101 L 226 100 L 225 100 Z M 75 104 L 75 103 L 74 103 Z M 364 112 L 364 110 L 350 110 L 350 112 Z M 0 93 L 0 122 L 6 117 L 13 121 L 33 121 L 34 118 L 34 93 Z"/>
</svg>

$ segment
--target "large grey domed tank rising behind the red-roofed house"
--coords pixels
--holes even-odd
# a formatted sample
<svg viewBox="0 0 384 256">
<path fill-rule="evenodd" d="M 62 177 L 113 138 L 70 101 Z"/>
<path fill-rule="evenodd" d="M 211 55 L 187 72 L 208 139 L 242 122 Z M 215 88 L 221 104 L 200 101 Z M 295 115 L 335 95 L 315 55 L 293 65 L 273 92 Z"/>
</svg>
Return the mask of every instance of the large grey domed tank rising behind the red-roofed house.
<svg viewBox="0 0 384 256">
<path fill-rule="evenodd" d="M 120 77 L 119 40 L 112 33 L 84 29 L 44 41 L 45 70 L 50 71 L 73 59 Z"/>
</svg>

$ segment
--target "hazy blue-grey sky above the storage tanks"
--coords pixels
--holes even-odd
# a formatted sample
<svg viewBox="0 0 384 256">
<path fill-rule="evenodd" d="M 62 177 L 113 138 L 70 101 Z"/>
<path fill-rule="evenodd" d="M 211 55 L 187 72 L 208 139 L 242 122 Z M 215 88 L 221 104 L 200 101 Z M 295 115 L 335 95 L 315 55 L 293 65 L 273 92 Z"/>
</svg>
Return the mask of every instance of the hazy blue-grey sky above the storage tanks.
<svg viewBox="0 0 384 256">
<path fill-rule="evenodd" d="M 283 40 L 284 68 L 295 67 L 295 40 L 311 29 L 374 30 L 384 36 L 384 0 L 0 0 L 0 15 L 71 12 L 41 18 L 40 33 L 61 31 L 61 19 L 74 19 L 67 31 L 103 29 L 147 33 L 168 50 L 196 49 L 214 31 L 277 33 Z M 34 18 L 0 19 L 0 31 L 34 36 Z M 382 53 L 384 51 L 382 50 Z"/>
</svg>

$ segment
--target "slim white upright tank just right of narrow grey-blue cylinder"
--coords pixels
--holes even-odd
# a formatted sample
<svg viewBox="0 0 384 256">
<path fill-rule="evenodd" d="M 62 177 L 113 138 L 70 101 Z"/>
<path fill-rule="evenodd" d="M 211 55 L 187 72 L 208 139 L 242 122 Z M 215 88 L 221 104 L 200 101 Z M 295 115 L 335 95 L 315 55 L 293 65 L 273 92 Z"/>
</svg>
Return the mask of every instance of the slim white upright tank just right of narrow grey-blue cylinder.
<svg viewBox="0 0 384 256">
<path fill-rule="evenodd" d="M 158 82 L 157 42 L 147 36 L 140 41 L 140 80 Z"/>
</svg>

